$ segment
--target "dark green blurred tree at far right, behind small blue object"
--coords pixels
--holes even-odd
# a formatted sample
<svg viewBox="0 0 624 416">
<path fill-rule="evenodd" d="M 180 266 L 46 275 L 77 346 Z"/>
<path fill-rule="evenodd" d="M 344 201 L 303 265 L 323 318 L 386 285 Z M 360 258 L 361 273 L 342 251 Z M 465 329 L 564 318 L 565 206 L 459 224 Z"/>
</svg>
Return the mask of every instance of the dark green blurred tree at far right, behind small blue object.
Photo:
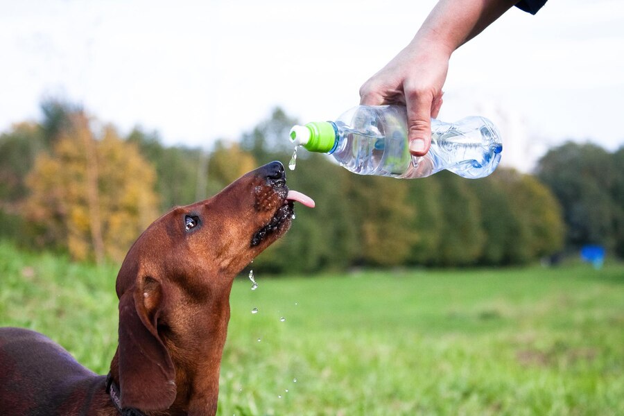
<svg viewBox="0 0 624 416">
<path fill-rule="evenodd" d="M 614 157 L 593 144 L 566 143 L 539 161 L 539 179 L 553 190 L 564 211 L 570 248 L 588 243 L 614 248 L 618 183 Z"/>
</svg>

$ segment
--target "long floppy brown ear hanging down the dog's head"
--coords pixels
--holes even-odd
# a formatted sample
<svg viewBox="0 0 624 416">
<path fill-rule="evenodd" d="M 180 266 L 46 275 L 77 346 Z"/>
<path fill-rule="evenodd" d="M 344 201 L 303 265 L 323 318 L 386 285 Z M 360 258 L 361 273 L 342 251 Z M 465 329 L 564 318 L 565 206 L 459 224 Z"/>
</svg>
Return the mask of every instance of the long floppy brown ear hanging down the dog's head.
<svg viewBox="0 0 624 416">
<path fill-rule="evenodd" d="M 157 331 L 166 293 L 154 279 L 139 278 L 119 298 L 121 406 L 166 410 L 176 395 L 175 370 Z"/>
</svg>

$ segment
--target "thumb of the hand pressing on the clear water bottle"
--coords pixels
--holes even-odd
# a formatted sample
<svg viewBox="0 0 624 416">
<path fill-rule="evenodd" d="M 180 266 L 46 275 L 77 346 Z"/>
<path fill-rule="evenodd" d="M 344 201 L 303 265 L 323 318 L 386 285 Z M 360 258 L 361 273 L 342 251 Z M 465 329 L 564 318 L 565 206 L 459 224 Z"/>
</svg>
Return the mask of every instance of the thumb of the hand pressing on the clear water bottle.
<svg viewBox="0 0 624 416">
<path fill-rule="evenodd" d="M 414 100 L 408 100 L 408 141 L 410 153 L 415 156 L 424 156 L 431 146 L 431 97 L 426 94 L 415 96 Z"/>
</svg>

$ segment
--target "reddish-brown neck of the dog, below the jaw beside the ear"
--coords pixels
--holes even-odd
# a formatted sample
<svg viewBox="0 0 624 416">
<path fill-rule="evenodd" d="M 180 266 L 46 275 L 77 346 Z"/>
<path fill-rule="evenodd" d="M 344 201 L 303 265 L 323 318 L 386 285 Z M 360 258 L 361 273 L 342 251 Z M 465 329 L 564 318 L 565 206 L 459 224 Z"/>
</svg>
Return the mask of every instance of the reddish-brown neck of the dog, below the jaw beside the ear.
<svg viewBox="0 0 624 416">
<path fill-rule="evenodd" d="M 144 412 L 146 416 L 216 414 L 220 362 L 229 322 L 229 301 L 225 303 L 213 305 L 206 311 L 210 320 L 195 328 L 198 337 L 194 340 L 192 349 L 179 347 L 173 341 L 165 340 L 175 367 L 177 395 L 170 408 L 160 412 Z M 112 380 L 119 383 L 119 349 L 112 359 L 110 374 Z"/>
</svg>

